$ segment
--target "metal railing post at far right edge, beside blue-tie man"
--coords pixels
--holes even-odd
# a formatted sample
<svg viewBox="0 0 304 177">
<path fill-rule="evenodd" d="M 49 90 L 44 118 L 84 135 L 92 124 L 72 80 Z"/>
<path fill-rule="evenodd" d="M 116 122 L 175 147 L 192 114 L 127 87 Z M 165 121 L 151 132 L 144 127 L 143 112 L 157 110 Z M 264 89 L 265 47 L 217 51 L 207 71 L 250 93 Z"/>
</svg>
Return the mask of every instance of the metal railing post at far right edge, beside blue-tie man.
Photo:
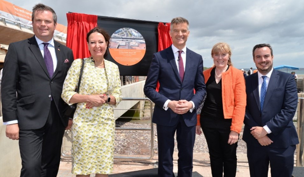
<svg viewBox="0 0 304 177">
<path fill-rule="evenodd" d="M 296 155 L 296 166 L 304 166 L 304 98 L 299 97 L 298 99 L 298 123 L 297 133 L 299 136 L 299 144 L 297 144 L 297 155 Z"/>
</svg>

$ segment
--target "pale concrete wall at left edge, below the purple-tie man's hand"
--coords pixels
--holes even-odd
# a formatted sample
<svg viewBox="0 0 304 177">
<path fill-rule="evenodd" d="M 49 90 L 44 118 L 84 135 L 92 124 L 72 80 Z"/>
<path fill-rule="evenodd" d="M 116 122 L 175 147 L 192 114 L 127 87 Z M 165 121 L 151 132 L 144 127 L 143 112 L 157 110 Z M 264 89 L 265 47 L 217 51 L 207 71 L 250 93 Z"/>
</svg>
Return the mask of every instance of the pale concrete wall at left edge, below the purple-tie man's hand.
<svg viewBox="0 0 304 177">
<path fill-rule="evenodd" d="M 0 176 L 18 177 L 21 170 L 19 141 L 6 137 L 5 128 L 0 117 Z"/>
</svg>

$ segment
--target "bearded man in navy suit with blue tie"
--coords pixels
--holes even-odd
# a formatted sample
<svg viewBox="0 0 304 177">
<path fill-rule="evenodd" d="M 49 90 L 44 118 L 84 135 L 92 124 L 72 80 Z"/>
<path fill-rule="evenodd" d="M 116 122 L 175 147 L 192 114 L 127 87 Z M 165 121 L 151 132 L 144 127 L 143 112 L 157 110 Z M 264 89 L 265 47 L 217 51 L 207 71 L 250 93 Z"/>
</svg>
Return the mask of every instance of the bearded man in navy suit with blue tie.
<svg viewBox="0 0 304 177">
<path fill-rule="evenodd" d="M 290 177 L 295 145 L 299 143 L 292 118 L 298 103 L 293 75 L 274 70 L 269 44 L 253 48 L 257 73 L 245 77 L 247 106 L 243 140 L 251 177 Z"/>
</svg>

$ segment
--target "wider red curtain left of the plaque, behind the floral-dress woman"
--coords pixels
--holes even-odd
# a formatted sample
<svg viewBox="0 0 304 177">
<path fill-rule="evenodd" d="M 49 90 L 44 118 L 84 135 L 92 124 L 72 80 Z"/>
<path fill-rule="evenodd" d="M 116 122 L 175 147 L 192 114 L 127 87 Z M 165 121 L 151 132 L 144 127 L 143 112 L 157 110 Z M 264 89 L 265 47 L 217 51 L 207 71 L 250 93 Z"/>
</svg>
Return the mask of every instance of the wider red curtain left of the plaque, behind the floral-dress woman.
<svg viewBox="0 0 304 177">
<path fill-rule="evenodd" d="M 71 48 L 74 59 L 90 56 L 87 33 L 97 27 L 97 16 L 81 13 L 67 13 L 67 47 Z"/>
</svg>

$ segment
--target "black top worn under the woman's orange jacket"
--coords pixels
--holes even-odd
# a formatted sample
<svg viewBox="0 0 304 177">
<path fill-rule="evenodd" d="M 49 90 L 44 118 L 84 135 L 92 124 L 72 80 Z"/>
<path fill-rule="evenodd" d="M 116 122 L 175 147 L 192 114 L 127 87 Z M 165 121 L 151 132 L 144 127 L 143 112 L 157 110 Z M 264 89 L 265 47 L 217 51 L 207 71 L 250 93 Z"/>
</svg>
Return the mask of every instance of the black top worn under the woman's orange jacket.
<svg viewBox="0 0 304 177">
<path fill-rule="evenodd" d="M 227 70 L 229 69 L 229 66 Z M 227 71 L 226 70 L 226 71 Z M 207 97 L 202 108 L 201 117 L 215 117 L 224 119 L 222 99 L 222 79 L 219 83 L 215 81 L 215 68 L 211 70 L 210 77 L 206 83 Z"/>
</svg>

